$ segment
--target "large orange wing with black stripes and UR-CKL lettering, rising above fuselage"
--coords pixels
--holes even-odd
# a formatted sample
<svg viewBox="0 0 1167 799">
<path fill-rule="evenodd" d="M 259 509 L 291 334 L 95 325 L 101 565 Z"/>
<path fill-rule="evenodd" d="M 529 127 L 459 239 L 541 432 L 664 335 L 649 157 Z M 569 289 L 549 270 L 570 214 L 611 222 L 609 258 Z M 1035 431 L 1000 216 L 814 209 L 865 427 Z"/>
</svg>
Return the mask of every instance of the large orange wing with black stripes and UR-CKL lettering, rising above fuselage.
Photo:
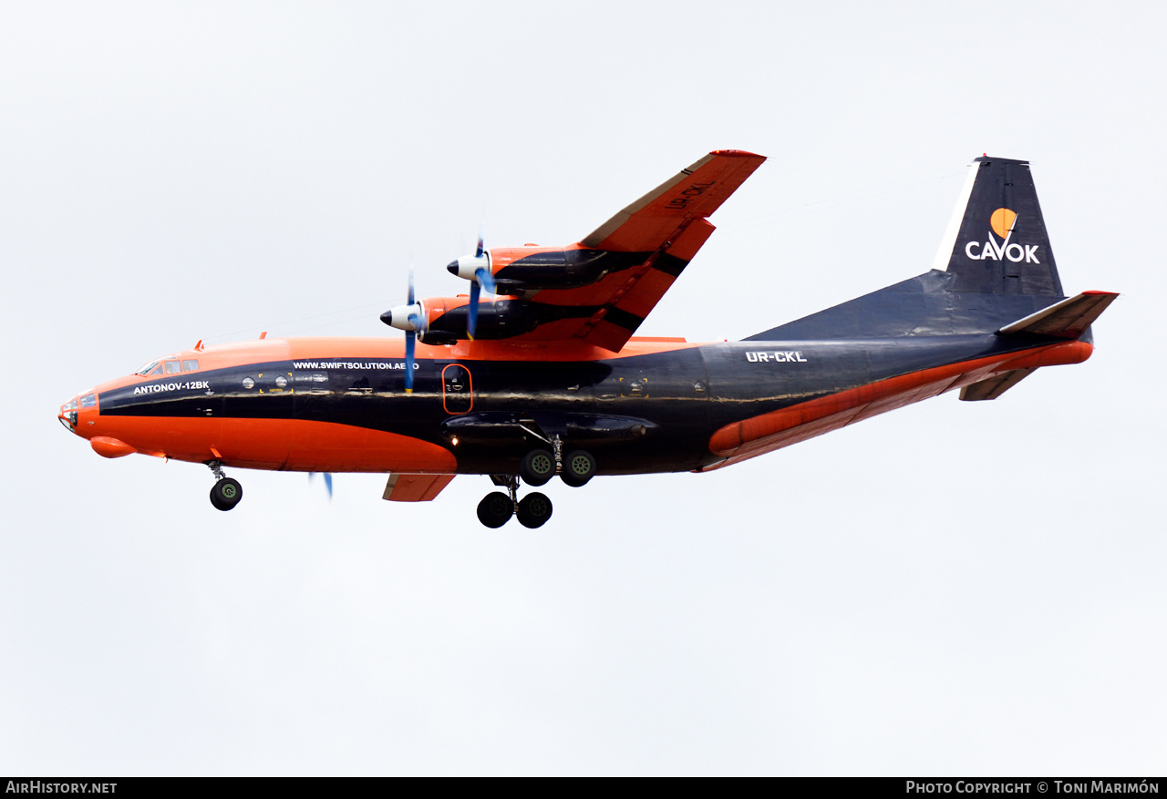
<svg viewBox="0 0 1167 799">
<path fill-rule="evenodd" d="M 713 233 L 706 217 L 763 161 L 714 150 L 568 247 L 617 266 L 587 286 L 534 293 L 529 300 L 548 307 L 548 321 L 511 341 L 575 338 L 619 352 Z"/>
</svg>

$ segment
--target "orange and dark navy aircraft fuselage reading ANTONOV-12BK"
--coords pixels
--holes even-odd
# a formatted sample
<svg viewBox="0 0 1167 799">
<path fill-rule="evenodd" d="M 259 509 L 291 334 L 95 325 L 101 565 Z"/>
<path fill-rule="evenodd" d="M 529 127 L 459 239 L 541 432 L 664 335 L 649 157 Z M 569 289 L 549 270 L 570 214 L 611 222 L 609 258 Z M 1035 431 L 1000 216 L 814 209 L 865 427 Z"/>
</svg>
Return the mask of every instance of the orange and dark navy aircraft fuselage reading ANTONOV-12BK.
<svg viewBox="0 0 1167 799">
<path fill-rule="evenodd" d="M 984 334 L 634 339 L 619 356 L 463 342 L 419 346 L 406 393 L 400 341 L 264 339 L 175 353 L 163 359 L 177 364 L 172 373 L 99 386 L 75 412 L 75 432 L 107 456 L 502 475 L 517 474 L 532 444 L 558 434 L 589 450 L 598 474 L 705 470 L 993 373 L 1077 363 L 1091 349 Z"/>
</svg>

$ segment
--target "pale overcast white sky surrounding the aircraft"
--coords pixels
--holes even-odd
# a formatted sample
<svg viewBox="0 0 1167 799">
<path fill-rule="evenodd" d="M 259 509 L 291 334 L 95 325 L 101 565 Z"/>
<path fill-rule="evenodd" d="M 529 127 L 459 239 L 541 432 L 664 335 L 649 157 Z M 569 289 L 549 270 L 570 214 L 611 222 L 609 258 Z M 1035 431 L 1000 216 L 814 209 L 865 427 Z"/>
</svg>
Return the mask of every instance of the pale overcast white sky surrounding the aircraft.
<svg viewBox="0 0 1167 799">
<path fill-rule="evenodd" d="M 1161 775 L 1162 3 L 0 2 L 0 773 Z M 489 489 L 106 461 L 57 406 L 200 338 L 392 336 L 488 245 L 770 156 L 642 328 L 931 266 L 1028 159 L 1078 366 L 708 475 Z"/>
</svg>

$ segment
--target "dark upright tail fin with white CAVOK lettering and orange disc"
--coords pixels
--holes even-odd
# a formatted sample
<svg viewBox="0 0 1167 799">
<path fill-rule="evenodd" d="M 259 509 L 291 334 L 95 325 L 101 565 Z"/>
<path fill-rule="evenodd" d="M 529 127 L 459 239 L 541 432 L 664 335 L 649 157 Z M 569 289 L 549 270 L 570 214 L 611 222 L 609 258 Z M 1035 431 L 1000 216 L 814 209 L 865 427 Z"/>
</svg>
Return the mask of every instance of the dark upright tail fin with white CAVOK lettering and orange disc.
<svg viewBox="0 0 1167 799">
<path fill-rule="evenodd" d="M 1062 296 L 1028 161 L 973 162 L 934 268 L 957 292 Z"/>
</svg>

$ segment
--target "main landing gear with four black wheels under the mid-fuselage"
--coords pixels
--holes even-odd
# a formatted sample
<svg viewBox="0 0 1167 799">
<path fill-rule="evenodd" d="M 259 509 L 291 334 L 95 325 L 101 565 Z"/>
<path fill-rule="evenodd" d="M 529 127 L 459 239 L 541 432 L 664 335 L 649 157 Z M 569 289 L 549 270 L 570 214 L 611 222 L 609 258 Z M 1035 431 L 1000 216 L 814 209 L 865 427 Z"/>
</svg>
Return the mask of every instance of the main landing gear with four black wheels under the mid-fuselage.
<svg viewBox="0 0 1167 799">
<path fill-rule="evenodd" d="M 530 485 L 545 485 L 557 474 L 571 485 L 579 488 L 595 475 L 595 458 L 591 453 L 576 449 L 562 456 L 562 440 L 554 436 L 550 441 L 552 451 L 532 449 L 519 464 L 519 475 L 491 475 L 495 485 L 506 489 L 491 491 L 478 503 L 478 521 L 487 527 L 502 527 L 513 516 L 524 527 L 541 527 L 551 518 L 551 499 L 533 491 L 523 499 L 518 498 L 518 481 L 523 478 Z"/>
</svg>

